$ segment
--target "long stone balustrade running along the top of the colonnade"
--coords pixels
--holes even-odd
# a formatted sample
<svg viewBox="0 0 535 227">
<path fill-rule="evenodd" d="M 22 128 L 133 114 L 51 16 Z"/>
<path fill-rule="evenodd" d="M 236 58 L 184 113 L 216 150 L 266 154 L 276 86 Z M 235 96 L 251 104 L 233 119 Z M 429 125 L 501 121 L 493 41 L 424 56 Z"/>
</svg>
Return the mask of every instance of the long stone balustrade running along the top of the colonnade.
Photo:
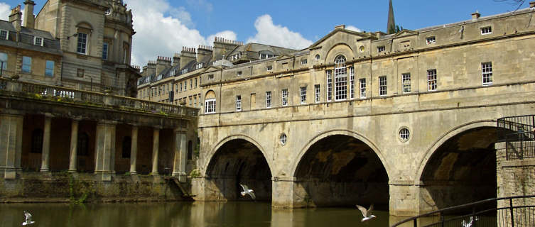
<svg viewBox="0 0 535 227">
<path fill-rule="evenodd" d="M 115 107 L 131 111 L 144 111 L 153 114 L 173 114 L 195 117 L 198 109 L 163 104 L 155 101 L 134 99 L 126 96 L 104 94 L 99 92 L 82 91 L 66 87 L 20 82 L 0 78 L 0 92 L 11 96 L 23 96 L 31 99 L 48 99 L 54 101 L 72 102 L 90 106 Z"/>
</svg>

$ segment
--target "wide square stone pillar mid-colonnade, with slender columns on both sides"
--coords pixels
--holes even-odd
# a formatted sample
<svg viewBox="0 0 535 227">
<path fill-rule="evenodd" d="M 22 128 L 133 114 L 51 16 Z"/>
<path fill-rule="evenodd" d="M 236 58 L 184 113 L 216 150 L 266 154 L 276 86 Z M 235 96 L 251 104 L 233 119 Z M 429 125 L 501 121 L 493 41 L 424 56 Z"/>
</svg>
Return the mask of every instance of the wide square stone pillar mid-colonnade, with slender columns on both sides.
<svg viewBox="0 0 535 227">
<path fill-rule="evenodd" d="M 115 127 L 113 121 L 97 123 L 94 145 L 94 173 L 97 179 L 111 181 L 115 174 Z"/>
</svg>

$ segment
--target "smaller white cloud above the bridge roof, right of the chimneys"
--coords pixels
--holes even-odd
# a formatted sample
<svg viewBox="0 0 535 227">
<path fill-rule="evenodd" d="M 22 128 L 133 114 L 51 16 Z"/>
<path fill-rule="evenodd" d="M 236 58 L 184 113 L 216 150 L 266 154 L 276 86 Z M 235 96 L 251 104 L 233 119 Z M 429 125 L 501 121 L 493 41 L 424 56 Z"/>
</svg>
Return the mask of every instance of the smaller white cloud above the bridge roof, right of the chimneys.
<svg viewBox="0 0 535 227">
<path fill-rule="evenodd" d="M 269 14 L 256 18 L 254 28 L 256 28 L 256 35 L 249 37 L 247 43 L 264 43 L 293 49 L 303 49 L 312 44 L 312 41 L 303 38 L 300 33 L 275 25 Z"/>
</svg>

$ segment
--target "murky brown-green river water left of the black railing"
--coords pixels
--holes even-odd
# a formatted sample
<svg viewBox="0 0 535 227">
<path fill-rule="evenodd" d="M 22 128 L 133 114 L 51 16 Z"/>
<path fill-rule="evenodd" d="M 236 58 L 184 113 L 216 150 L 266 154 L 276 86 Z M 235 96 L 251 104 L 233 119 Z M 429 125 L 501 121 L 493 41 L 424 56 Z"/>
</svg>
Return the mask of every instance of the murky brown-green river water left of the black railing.
<svg viewBox="0 0 535 227">
<path fill-rule="evenodd" d="M 141 204 L 0 204 L 0 227 L 21 226 L 23 211 L 34 226 L 389 226 L 387 211 L 361 223 L 356 208 L 271 209 L 261 202 Z"/>
</svg>

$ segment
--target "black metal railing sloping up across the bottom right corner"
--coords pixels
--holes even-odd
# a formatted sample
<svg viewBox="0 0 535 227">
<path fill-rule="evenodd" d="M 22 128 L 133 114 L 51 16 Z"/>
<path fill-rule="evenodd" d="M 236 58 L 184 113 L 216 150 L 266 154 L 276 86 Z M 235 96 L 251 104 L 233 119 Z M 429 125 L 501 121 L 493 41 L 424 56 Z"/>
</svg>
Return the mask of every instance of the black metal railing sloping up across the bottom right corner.
<svg viewBox="0 0 535 227">
<path fill-rule="evenodd" d="M 392 227 L 396 226 L 535 226 L 535 195 L 485 199 L 452 206 L 407 218 Z"/>
</svg>

